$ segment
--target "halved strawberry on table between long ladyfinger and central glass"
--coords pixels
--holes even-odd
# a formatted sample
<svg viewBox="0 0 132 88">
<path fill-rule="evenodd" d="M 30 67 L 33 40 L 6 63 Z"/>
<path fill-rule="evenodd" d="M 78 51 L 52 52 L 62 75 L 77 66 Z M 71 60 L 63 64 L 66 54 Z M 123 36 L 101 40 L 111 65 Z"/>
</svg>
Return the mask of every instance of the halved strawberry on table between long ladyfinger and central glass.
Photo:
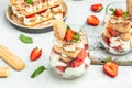
<svg viewBox="0 0 132 88">
<path fill-rule="evenodd" d="M 41 48 L 33 48 L 32 52 L 31 52 L 31 55 L 30 55 L 30 59 L 31 61 L 35 61 L 35 59 L 38 59 L 42 55 L 42 50 Z"/>
</svg>

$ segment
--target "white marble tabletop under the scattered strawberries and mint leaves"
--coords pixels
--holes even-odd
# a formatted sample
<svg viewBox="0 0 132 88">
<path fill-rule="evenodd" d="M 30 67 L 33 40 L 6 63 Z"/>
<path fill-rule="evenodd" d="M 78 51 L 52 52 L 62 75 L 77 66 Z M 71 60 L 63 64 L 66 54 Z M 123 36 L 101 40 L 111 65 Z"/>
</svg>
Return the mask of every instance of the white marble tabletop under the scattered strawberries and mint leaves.
<svg viewBox="0 0 132 88">
<path fill-rule="evenodd" d="M 91 3 L 102 3 L 106 8 L 112 1 L 123 0 L 66 0 L 69 7 L 66 23 L 82 25 L 86 18 L 90 14 L 97 15 L 100 21 L 103 19 L 105 9 L 99 13 L 89 10 Z M 8 7 L 8 0 L 0 0 L 0 43 L 8 46 L 12 52 L 23 58 L 26 67 L 22 72 L 15 72 L 11 68 L 8 78 L 0 78 L 0 88 L 132 88 L 132 67 L 120 66 L 117 78 L 110 78 L 102 72 L 102 65 L 91 65 L 88 72 L 75 80 L 64 80 L 55 78 L 50 70 L 44 72 L 38 77 L 31 79 L 31 73 L 40 65 L 48 67 L 50 52 L 53 42 L 53 32 L 42 34 L 29 34 L 15 30 L 4 18 L 4 11 Z M 91 29 L 92 30 L 92 29 Z M 33 44 L 23 44 L 19 35 L 23 33 L 33 37 Z M 30 62 L 29 55 L 33 47 L 43 48 L 42 57 L 36 62 Z M 0 59 L 0 65 L 7 66 Z"/>
</svg>

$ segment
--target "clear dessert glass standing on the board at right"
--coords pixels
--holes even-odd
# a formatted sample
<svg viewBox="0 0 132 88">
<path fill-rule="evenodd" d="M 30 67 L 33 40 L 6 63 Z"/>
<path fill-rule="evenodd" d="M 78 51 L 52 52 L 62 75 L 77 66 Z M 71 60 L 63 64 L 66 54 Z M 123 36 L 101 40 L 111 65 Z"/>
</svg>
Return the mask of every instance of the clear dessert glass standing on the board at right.
<svg viewBox="0 0 132 88">
<path fill-rule="evenodd" d="M 114 10 L 114 13 L 110 11 Z M 118 15 L 116 10 L 121 10 Z M 102 23 L 101 43 L 112 54 L 127 54 L 132 50 L 132 22 L 128 16 L 125 2 L 112 2 L 106 8 L 106 16 Z"/>
</svg>

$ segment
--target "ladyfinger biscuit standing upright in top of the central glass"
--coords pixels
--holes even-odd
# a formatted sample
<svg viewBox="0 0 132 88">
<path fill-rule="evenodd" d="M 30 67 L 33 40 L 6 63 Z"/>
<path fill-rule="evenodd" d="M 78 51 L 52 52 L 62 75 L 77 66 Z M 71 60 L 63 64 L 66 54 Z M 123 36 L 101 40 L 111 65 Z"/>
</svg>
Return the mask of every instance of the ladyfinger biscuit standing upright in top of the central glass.
<svg viewBox="0 0 132 88">
<path fill-rule="evenodd" d="M 63 20 L 56 20 L 53 24 L 53 30 L 56 38 L 64 40 L 66 34 L 66 25 Z"/>
</svg>

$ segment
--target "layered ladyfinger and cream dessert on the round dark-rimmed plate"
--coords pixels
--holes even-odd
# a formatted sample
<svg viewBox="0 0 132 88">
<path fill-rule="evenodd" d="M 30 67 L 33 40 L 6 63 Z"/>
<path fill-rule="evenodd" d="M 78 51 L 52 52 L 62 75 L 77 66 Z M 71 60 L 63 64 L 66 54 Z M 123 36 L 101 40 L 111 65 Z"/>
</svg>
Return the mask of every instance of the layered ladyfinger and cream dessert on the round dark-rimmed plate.
<svg viewBox="0 0 132 88">
<path fill-rule="evenodd" d="M 10 0 L 11 19 L 25 26 L 48 26 L 62 20 L 65 11 L 62 0 Z"/>
</svg>

